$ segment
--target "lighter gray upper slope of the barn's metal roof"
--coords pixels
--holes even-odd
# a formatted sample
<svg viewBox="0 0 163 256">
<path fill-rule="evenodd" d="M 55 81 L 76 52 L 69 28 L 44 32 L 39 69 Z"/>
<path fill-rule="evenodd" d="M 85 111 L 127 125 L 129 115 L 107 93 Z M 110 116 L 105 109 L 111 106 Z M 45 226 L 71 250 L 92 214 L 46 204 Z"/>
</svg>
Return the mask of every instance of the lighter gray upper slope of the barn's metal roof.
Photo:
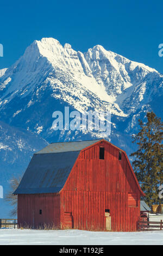
<svg viewBox="0 0 163 256">
<path fill-rule="evenodd" d="M 60 153 L 60 152 L 70 152 L 70 151 L 80 151 L 86 147 L 89 147 L 96 142 L 101 141 L 101 139 L 95 139 L 92 141 L 77 141 L 77 142 L 57 142 L 47 145 L 47 147 L 38 151 L 35 154 L 45 154 L 45 153 Z"/>
</svg>

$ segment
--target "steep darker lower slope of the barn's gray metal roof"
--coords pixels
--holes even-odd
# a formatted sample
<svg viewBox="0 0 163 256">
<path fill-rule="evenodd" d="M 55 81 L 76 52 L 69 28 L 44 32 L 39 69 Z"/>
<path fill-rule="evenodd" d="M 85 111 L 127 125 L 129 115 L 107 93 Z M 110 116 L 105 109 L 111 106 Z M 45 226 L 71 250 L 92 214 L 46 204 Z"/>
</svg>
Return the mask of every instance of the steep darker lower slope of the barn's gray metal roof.
<svg viewBox="0 0 163 256">
<path fill-rule="evenodd" d="M 79 153 L 80 151 L 34 154 L 14 194 L 59 192 Z"/>
</svg>

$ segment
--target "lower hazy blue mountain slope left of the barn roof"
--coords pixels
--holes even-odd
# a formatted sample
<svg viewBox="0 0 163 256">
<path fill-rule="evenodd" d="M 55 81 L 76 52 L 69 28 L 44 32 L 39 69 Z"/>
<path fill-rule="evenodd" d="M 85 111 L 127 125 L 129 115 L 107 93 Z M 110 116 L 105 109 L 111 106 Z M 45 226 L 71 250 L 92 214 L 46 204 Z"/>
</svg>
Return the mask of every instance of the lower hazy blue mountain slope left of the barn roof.
<svg viewBox="0 0 163 256">
<path fill-rule="evenodd" d="M 17 129 L 0 121 L 0 185 L 4 196 L 9 190 L 10 179 L 22 176 L 32 155 L 48 143 L 33 133 Z M 7 218 L 12 207 L 0 198 L 0 218 Z"/>
</svg>

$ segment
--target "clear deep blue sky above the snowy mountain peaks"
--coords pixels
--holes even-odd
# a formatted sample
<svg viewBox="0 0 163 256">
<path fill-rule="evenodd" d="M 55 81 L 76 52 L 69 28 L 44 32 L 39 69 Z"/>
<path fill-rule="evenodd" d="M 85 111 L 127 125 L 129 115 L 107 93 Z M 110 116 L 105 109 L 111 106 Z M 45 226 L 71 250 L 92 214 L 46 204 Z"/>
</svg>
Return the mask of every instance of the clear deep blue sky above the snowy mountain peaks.
<svg viewBox="0 0 163 256">
<path fill-rule="evenodd" d="M 94 45 L 163 73 L 163 1 L 1 1 L 0 43 L 9 67 L 35 39 L 53 37 L 82 52 Z"/>
</svg>

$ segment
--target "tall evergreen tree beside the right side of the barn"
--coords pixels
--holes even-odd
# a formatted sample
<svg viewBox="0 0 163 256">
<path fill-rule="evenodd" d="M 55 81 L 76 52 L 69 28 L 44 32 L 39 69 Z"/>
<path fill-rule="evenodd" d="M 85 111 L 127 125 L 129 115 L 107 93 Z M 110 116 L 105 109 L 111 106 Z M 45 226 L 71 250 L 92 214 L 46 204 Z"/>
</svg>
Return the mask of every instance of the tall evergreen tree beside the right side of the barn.
<svg viewBox="0 0 163 256">
<path fill-rule="evenodd" d="M 153 112 L 148 112 L 147 123 L 139 120 L 139 125 L 139 132 L 133 136 L 138 149 L 130 156 L 134 156 L 135 174 L 146 194 L 145 201 L 151 206 L 162 203 L 158 187 L 163 185 L 163 123 Z"/>
</svg>

